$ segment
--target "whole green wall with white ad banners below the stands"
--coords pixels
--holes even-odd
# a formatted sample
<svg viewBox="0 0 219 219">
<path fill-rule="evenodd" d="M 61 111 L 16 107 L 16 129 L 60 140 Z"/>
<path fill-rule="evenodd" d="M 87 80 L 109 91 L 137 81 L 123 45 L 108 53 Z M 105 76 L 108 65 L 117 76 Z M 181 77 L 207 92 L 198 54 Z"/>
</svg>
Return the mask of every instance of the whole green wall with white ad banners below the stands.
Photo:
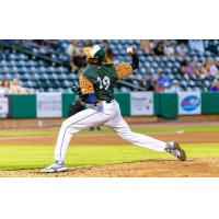
<svg viewBox="0 0 219 219">
<path fill-rule="evenodd" d="M 0 117 L 58 118 L 68 117 L 77 96 L 69 93 L 13 94 L 0 97 Z M 219 93 L 180 92 L 116 93 L 124 116 L 159 116 L 175 119 L 181 115 L 219 114 Z"/>
</svg>

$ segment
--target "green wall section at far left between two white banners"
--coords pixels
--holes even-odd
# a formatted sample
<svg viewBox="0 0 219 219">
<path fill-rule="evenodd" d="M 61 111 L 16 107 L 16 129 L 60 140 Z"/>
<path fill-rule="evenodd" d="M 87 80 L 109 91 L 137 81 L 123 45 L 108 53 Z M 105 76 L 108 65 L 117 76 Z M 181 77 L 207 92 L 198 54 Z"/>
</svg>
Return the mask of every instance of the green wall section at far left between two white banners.
<svg viewBox="0 0 219 219">
<path fill-rule="evenodd" d="M 11 118 L 36 118 L 36 95 L 9 95 L 9 115 Z"/>
</svg>

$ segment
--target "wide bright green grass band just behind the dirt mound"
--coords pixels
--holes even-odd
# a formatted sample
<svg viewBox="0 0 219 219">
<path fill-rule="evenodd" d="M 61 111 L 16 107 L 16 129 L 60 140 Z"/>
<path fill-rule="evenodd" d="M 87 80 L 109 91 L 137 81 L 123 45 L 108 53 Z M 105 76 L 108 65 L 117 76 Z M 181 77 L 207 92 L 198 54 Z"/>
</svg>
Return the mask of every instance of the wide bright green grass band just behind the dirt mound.
<svg viewBox="0 0 219 219">
<path fill-rule="evenodd" d="M 182 145 L 188 158 L 219 158 L 219 143 Z M 53 162 L 53 146 L 0 146 L 0 170 L 45 168 Z M 71 146 L 66 163 L 68 166 L 100 165 L 173 158 L 136 146 Z"/>
</svg>

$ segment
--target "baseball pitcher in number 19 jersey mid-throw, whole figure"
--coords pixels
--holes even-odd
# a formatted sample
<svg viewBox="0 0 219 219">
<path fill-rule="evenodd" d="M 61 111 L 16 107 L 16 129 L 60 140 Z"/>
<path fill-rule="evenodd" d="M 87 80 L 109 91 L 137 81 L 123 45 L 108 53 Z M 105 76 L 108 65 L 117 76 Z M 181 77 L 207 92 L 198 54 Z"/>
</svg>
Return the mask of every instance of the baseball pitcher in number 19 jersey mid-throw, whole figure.
<svg viewBox="0 0 219 219">
<path fill-rule="evenodd" d="M 154 151 L 166 151 L 180 161 L 186 160 L 184 150 L 177 142 L 163 142 L 146 135 L 130 130 L 120 114 L 119 105 L 114 100 L 114 87 L 117 80 L 124 79 L 139 67 L 138 56 L 132 47 L 127 49 L 131 62 L 103 64 L 105 50 L 99 45 L 85 47 L 88 66 L 79 78 L 79 87 L 74 93 L 80 95 L 82 102 L 90 107 L 66 119 L 60 128 L 55 149 L 55 162 L 43 172 L 54 173 L 67 170 L 65 157 L 71 137 L 85 128 L 105 125 L 132 145 L 145 147 Z"/>
</svg>

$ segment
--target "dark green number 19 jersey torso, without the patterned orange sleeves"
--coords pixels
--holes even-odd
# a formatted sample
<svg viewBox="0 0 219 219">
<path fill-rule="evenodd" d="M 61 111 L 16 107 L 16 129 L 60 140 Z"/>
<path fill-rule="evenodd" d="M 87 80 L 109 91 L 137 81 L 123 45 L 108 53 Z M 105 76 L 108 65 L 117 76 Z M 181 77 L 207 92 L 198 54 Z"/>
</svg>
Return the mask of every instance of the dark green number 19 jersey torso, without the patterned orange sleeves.
<svg viewBox="0 0 219 219">
<path fill-rule="evenodd" d="M 102 66 L 88 65 L 82 76 L 93 83 L 97 99 L 105 101 L 114 99 L 114 87 L 118 76 L 113 64 Z"/>
</svg>

